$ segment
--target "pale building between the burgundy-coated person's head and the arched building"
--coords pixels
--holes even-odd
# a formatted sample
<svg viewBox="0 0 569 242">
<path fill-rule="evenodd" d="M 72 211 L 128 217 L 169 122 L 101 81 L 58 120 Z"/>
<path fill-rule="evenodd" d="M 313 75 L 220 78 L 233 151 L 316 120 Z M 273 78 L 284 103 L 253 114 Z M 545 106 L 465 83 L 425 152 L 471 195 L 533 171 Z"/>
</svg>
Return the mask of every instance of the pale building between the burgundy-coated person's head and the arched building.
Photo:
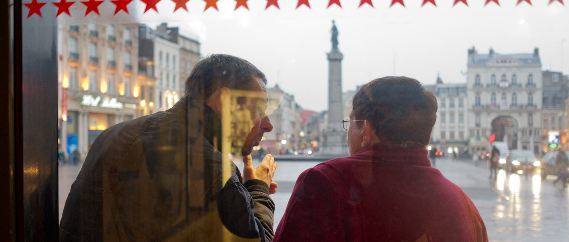
<svg viewBox="0 0 569 242">
<path fill-rule="evenodd" d="M 430 145 L 447 157 L 452 153 L 460 155 L 468 150 L 468 99 L 467 84 L 443 84 L 437 77 L 435 85 L 426 86 L 436 97 L 439 108 L 435 126 L 431 132 Z"/>
</svg>

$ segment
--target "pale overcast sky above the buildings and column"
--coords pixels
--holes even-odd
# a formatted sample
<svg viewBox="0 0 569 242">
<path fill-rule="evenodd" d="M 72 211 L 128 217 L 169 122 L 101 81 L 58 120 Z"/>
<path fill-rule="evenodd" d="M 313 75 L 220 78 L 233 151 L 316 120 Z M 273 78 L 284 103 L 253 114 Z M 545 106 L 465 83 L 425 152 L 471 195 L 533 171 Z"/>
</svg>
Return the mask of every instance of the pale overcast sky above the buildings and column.
<svg viewBox="0 0 569 242">
<path fill-rule="evenodd" d="M 569 7 L 557 1 L 516 6 L 517 0 L 500 0 L 501 6 L 484 6 L 484 0 L 467 0 L 469 7 L 460 2 L 452 7 L 453 0 L 435 0 L 438 7 L 421 7 L 421 0 L 404 0 L 406 7 L 372 1 L 374 8 L 358 9 L 360 0 L 340 0 L 342 9 L 327 9 L 328 0 L 310 0 L 312 9 L 295 9 L 297 0 L 279 0 L 281 10 L 265 10 L 265 0 L 249 0 L 249 10 L 234 11 L 236 1 L 220 0 L 219 11 L 204 12 L 204 1 L 191 0 L 189 13 L 180 9 L 174 14 L 174 2 L 167 0 L 158 3 L 160 14 L 142 14 L 145 4 L 138 1 L 130 7 L 138 12 L 137 21 L 151 26 L 167 21 L 191 32 L 201 41 L 203 55 L 228 53 L 249 60 L 265 72 L 270 87 L 279 84 L 302 107 L 316 111 L 328 106 L 332 19 L 344 53 L 344 91 L 389 75 L 433 84 L 440 72 L 444 82 L 465 82 L 461 72 L 467 71 L 472 46 L 481 53 L 490 47 L 498 53 L 532 53 L 539 47 L 543 69 L 569 73 Z M 108 2 L 101 6 L 114 10 Z M 119 14 L 101 18 L 120 22 Z"/>
</svg>

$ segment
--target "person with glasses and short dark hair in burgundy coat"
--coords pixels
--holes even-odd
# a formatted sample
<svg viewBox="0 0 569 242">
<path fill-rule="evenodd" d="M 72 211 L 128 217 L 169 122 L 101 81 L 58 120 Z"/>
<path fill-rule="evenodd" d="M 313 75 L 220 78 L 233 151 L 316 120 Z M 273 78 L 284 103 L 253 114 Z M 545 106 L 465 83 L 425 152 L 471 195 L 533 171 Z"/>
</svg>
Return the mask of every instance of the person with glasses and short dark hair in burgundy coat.
<svg viewBox="0 0 569 242">
<path fill-rule="evenodd" d="M 352 106 L 351 156 L 300 174 L 275 242 L 488 241 L 471 199 L 428 160 L 431 91 L 384 77 L 362 86 Z"/>
</svg>

